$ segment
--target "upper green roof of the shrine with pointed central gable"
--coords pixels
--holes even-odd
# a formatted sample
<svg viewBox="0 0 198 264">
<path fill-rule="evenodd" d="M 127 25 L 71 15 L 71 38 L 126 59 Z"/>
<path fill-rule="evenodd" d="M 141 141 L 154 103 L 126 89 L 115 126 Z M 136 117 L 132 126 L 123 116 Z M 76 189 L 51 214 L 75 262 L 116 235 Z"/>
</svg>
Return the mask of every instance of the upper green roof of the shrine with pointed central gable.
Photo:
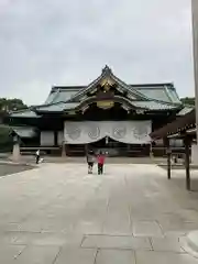
<svg viewBox="0 0 198 264">
<path fill-rule="evenodd" d="M 88 86 L 56 86 L 53 87 L 45 105 L 61 101 L 79 102 L 87 98 L 86 94 L 96 89 L 98 82 L 103 78 L 112 78 L 118 84 L 118 89 L 128 91 L 131 100 L 155 100 L 167 103 L 182 103 L 173 84 L 145 84 L 145 85 L 127 85 L 111 69 L 106 66 L 101 75 Z"/>
</svg>

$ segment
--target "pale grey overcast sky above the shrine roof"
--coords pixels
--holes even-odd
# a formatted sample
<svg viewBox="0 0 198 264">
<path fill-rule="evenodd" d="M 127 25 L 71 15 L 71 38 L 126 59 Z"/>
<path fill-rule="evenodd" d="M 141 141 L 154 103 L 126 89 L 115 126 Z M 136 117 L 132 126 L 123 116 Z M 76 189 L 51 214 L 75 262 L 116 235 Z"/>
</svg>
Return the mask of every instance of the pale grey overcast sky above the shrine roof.
<svg viewBox="0 0 198 264">
<path fill-rule="evenodd" d="M 108 64 L 130 84 L 194 95 L 190 0 L 0 0 L 0 97 L 43 102 Z"/>
</svg>

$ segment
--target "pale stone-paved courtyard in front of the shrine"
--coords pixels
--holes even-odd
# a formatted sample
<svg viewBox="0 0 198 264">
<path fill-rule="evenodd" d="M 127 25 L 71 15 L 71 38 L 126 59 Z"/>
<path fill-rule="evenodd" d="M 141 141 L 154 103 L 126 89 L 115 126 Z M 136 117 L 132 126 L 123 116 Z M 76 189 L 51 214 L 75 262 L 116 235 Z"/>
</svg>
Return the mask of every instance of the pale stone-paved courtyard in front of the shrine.
<svg viewBox="0 0 198 264">
<path fill-rule="evenodd" d="M 84 164 L 42 164 L 0 178 L 0 263 L 198 264 L 180 242 L 198 229 L 198 193 L 180 176 L 168 182 L 155 165 L 109 164 L 98 176 Z"/>
</svg>

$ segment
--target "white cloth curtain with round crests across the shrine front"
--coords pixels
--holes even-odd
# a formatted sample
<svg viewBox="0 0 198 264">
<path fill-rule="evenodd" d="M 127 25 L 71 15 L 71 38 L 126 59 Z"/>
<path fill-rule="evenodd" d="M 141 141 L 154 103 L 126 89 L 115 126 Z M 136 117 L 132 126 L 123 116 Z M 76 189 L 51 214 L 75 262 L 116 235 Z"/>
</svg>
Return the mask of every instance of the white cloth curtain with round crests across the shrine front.
<svg viewBox="0 0 198 264">
<path fill-rule="evenodd" d="M 68 144 L 88 144 L 106 136 L 127 144 L 147 144 L 152 132 L 150 121 L 65 122 L 64 140 Z"/>
</svg>

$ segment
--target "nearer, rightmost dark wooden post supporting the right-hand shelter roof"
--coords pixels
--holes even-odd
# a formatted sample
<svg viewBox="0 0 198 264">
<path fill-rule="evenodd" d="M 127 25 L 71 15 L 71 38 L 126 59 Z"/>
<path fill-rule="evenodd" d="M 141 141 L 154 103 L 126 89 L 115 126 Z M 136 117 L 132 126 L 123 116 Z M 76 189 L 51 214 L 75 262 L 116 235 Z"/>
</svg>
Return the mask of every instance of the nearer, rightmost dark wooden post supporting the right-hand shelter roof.
<svg viewBox="0 0 198 264">
<path fill-rule="evenodd" d="M 186 168 L 186 188 L 190 190 L 190 138 L 186 135 L 184 139 L 185 144 L 185 168 Z"/>
</svg>

